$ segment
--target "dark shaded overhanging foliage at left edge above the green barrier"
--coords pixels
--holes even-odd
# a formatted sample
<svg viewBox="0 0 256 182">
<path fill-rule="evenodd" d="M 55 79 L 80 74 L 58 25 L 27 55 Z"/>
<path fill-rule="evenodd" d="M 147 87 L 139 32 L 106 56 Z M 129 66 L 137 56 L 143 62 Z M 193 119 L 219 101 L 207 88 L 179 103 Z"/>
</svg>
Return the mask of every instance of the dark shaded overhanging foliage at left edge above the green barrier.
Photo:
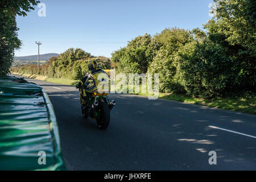
<svg viewBox="0 0 256 182">
<path fill-rule="evenodd" d="M 13 61 L 14 50 L 21 45 L 18 39 L 16 15 L 26 16 L 26 12 L 34 9 L 36 0 L 0 1 L 0 76 L 9 73 Z"/>
</svg>

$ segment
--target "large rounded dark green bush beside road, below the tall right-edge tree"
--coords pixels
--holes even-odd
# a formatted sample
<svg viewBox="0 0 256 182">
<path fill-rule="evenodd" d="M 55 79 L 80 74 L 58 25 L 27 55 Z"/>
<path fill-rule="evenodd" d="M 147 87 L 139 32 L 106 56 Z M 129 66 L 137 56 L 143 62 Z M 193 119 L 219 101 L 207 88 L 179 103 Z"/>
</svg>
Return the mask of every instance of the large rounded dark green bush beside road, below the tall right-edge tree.
<svg viewBox="0 0 256 182">
<path fill-rule="evenodd" d="M 192 42 L 178 52 L 179 79 L 189 96 L 227 96 L 236 87 L 233 59 L 225 49 L 210 40 Z"/>
</svg>

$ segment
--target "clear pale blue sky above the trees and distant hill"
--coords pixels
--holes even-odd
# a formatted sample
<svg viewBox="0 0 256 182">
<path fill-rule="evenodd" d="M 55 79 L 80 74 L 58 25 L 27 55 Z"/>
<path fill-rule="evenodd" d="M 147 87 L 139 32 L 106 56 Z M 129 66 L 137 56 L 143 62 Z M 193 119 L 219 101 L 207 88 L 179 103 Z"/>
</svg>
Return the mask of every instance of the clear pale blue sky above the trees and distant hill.
<svg viewBox="0 0 256 182">
<path fill-rule="evenodd" d="M 18 37 L 23 46 L 15 56 L 36 55 L 35 41 L 42 42 L 40 54 L 81 48 L 94 56 L 111 57 L 127 41 L 145 33 L 155 35 L 164 28 L 202 28 L 210 16 L 212 0 L 41 0 L 39 8 L 18 16 Z"/>
</svg>

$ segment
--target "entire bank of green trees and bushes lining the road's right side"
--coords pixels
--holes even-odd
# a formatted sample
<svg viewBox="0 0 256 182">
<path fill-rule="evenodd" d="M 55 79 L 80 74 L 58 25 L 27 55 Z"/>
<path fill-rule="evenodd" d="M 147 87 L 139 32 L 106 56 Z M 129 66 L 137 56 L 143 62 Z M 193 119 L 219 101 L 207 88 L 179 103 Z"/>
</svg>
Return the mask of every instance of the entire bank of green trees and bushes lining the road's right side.
<svg viewBox="0 0 256 182">
<path fill-rule="evenodd" d="M 202 98 L 255 93 L 256 2 L 214 3 L 216 14 L 204 30 L 138 36 L 112 54 L 113 65 L 123 73 L 159 73 L 160 92 Z"/>
</svg>

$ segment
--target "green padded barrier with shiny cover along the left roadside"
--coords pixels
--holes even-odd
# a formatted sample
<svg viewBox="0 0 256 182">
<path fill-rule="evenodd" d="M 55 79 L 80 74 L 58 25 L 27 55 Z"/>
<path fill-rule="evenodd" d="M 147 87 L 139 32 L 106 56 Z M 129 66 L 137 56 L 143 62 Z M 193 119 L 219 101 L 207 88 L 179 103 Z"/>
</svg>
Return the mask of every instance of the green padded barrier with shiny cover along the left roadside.
<svg viewBox="0 0 256 182">
<path fill-rule="evenodd" d="M 46 164 L 39 164 L 39 151 Z M 0 170 L 64 170 L 51 101 L 41 86 L 0 78 Z"/>
</svg>

